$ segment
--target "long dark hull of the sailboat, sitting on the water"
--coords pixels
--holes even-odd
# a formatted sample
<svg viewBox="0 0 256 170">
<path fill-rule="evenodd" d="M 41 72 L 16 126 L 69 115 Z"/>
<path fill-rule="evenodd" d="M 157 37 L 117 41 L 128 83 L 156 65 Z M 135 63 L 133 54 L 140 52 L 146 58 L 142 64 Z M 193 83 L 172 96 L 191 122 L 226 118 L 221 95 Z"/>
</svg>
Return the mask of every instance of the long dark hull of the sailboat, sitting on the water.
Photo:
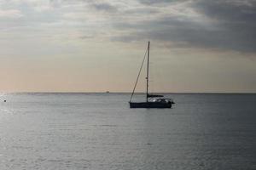
<svg viewBox="0 0 256 170">
<path fill-rule="evenodd" d="M 160 102 L 130 102 L 130 108 L 172 108 L 172 103 Z"/>
</svg>

